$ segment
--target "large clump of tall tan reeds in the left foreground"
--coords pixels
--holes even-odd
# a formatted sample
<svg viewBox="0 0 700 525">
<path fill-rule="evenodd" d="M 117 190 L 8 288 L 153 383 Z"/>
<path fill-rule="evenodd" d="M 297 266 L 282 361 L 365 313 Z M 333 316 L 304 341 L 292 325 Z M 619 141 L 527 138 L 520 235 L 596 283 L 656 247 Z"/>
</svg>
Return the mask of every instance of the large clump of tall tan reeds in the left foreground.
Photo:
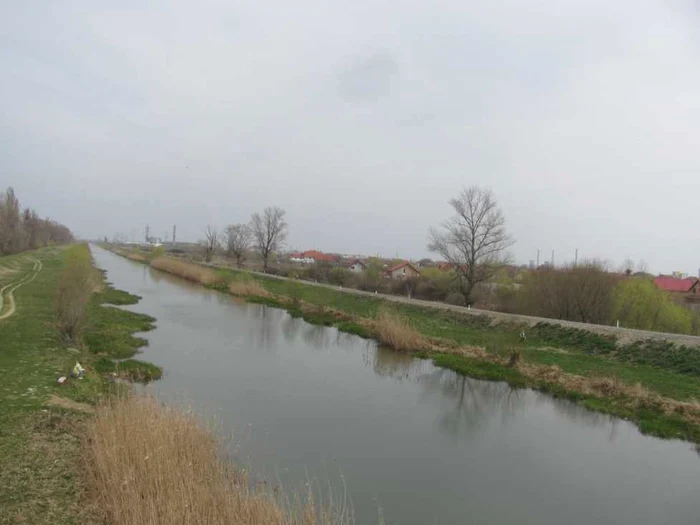
<svg viewBox="0 0 700 525">
<path fill-rule="evenodd" d="M 350 523 L 342 508 L 251 487 L 191 414 L 150 398 L 98 407 L 85 443 L 93 496 L 112 525 Z"/>
</svg>

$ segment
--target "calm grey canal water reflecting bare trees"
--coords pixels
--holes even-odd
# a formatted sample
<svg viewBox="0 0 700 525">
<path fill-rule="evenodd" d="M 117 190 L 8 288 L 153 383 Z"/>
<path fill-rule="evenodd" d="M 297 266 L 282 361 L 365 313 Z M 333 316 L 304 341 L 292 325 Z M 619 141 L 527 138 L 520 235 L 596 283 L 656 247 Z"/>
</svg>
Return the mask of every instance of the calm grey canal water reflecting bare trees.
<svg viewBox="0 0 700 525">
<path fill-rule="evenodd" d="M 149 390 L 218 421 L 268 483 L 332 487 L 358 524 L 700 523 L 688 443 L 92 250 L 157 319 Z"/>
</svg>

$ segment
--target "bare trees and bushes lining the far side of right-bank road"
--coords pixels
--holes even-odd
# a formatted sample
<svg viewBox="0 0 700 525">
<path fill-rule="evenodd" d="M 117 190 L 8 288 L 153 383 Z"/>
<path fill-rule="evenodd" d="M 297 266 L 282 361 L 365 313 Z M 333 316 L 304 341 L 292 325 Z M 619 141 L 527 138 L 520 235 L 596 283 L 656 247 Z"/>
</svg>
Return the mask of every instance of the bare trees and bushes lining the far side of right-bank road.
<svg viewBox="0 0 700 525">
<path fill-rule="evenodd" d="M 491 191 L 465 188 L 449 205 L 452 216 L 430 230 L 428 244 L 449 269 L 421 268 L 420 276 L 409 279 L 385 279 L 384 262 L 373 258 L 359 275 L 327 262 L 271 268 L 271 258 L 288 234 L 285 212 L 278 207 L 265 208 L 247 224 L 231 224 L 221 232 L 208 227 L 201 243 L 206 261 L 222 250 L 240 267 L 254 250 L 264 271 L 294 278 L 552 319 L 605 325 L 619 321 L 628 328 L 700 334 L 700 315 L 657 289 L 644 272 L 633 276 L 631 261 L 620 273 L 596 261 L 518 270 L 516 282 L 508 275 L 514 267 L 507 250 L 514 240 Z"/>
</svg>

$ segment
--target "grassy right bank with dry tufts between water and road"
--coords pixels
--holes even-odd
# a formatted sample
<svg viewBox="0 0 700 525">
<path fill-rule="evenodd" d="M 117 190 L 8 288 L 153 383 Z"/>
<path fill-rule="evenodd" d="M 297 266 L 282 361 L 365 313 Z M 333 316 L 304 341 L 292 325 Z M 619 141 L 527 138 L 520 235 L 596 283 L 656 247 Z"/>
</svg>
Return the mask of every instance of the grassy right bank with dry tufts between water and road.
<svg viewBox="0 0 700 525">
<path fill-rule="evenodd" d="M 210 288 L 286 308 L 311 323 L 431 358 L 437 366 L 565 397 L 634 421 L 648 434 L 700 442 L 698 349 L 651 341 L 620 345 L 613 337 L 547 323 L 494 325 L 484 316 L 390 303 L 169 257 L 144 259 Z"/>
</svg>

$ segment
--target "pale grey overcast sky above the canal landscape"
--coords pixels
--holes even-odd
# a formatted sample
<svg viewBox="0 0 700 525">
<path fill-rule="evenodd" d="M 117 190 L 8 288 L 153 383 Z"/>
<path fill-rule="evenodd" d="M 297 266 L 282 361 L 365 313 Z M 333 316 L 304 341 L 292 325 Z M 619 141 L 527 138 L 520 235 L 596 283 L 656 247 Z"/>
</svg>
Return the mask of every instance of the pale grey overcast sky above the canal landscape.
<svg viewBox="0 0 700 525">
<path fill-rule="evenodd" d="M 422 257 L 478 184 L 518 262 L 700 267 L 696 2 L 3 2 L 0 71 L 0 185 L 81 236 Z"/>
</svg>

